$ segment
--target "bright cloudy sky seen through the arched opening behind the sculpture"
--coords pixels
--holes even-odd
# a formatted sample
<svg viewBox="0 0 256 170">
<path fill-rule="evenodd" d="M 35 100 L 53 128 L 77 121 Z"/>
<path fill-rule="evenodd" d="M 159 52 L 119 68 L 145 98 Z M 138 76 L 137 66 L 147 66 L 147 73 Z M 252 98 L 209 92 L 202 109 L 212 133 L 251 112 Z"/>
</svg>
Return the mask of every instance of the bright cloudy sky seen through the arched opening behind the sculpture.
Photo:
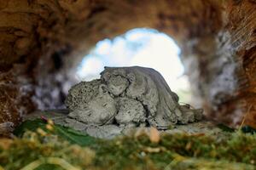
<svg viewBox="0 0 256 170">
<path fill-rule="evenodd" d="M 78 66 L 77 78 L 99 78 L 104 66 L 145 66 L 159 71 L 183 102 L 189 102 L 189 82 L 183 75 L 180 48 L 164 33 L 152 29 L 133 29 L 124 35 L 96 43 Z"/>
</svg>

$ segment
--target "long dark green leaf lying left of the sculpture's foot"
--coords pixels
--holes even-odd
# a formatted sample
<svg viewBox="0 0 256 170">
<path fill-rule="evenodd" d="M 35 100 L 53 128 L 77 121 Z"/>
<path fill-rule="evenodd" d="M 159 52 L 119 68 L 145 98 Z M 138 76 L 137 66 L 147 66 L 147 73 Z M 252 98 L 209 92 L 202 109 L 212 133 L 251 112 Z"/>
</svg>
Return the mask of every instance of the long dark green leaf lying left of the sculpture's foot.
<svg viewBox="0 0 256 170">
<path fill-rule="evenodd" d="M 16 127 L 14 133 L 16 136 L 21 137 L 26 132 L 26 130 L 35 132 L 37 131 L 38 128 L 42 128 L 46 133 L 54 133 L 59 137 L 61 137 L 62 139 L 66 139 L 71 144 L 89 146 L 91 144 L 95 144 L 96 142 L 95 138 L 84 133 L 79 133 L 78 131 L 70 127 L 62 127 L 61 125 L 54 125 L 54 130 L 49 131 L 46 128 L 46 124 L 47 123 L 41 119 L 36 119 L 33 121 L 27 120 L 25 122 L 22 122 L 19 127 Z"/>
</svg>

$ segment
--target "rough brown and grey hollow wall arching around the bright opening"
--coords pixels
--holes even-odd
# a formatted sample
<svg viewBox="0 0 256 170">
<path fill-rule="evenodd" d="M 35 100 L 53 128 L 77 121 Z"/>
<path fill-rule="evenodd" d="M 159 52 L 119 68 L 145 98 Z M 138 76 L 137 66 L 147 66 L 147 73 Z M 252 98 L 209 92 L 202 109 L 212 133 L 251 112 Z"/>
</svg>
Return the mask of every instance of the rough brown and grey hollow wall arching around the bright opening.
<svg viewBox="0 0 256 170">
<path fill-rule="evenodd" d="M 253 0 L 0 0 L 0 122 L 58 108 L 73 68 L 105 37 L 135 27 L 172 36 L 198 105 L 209 116 L 256 127 Z"/>
</svg>

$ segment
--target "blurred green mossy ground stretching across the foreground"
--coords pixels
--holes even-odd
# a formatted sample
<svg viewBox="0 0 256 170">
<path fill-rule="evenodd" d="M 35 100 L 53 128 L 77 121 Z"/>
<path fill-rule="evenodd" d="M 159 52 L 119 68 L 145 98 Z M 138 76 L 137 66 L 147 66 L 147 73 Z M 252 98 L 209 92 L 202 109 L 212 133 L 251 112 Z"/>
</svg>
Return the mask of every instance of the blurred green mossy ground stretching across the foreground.
<svg viewBox="0 0 256 170">
<path fill-rule="evenodd" d="M 22 126 L 20 137 L 0 140 L 0 169 L 256 169 L 252 133 L 216 138 L 141 131 L 102 140 L 41 121 Z"/>
</svg>

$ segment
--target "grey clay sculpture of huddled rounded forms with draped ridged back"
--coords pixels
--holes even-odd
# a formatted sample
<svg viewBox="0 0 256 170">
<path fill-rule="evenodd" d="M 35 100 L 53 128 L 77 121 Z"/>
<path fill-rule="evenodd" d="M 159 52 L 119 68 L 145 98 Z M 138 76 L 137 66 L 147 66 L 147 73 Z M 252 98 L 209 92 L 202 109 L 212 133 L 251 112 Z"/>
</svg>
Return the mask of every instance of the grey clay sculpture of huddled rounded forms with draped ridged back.
<svg viewBox="0 0 256 170">
<path fill-rule="evenodd" d="M 166 129 L 202 118 L 201 109 L 178 104 L 177 94 L 158 71 L 139 66 L 105 67 L 100 79 L 73 86 L 66 105 L 66 125 L 96 137 L 127 127 Z"/>
</svg>

